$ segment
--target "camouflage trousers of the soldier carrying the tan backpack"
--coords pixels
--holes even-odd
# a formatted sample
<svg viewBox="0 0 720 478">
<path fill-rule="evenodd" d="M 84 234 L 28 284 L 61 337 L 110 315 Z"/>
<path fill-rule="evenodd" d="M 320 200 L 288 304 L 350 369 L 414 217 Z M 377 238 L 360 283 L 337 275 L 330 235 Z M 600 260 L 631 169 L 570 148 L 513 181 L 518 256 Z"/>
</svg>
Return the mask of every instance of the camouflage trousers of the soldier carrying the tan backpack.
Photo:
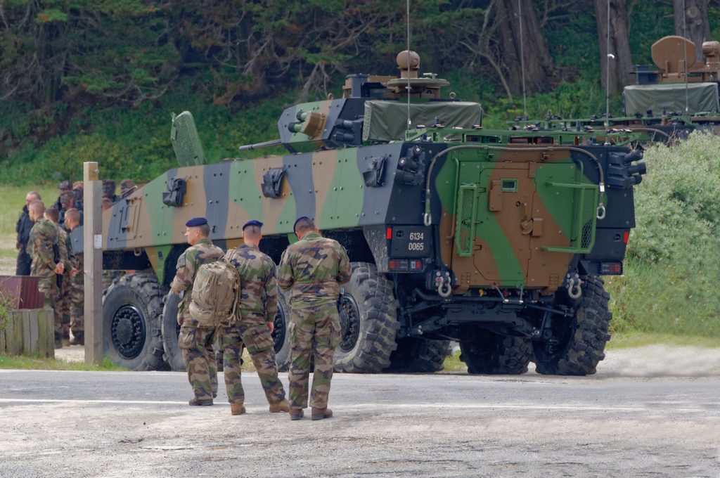
<svg viewBox="0 0 720 478">
<path fill-rule="evenodd" d="M 217 361 L 212 342 L 213 327 L 180 328 L 178 345 L 187 369 L 187 379 L 197 400 L 212 400 L 217 396 Z"/>
</svg>

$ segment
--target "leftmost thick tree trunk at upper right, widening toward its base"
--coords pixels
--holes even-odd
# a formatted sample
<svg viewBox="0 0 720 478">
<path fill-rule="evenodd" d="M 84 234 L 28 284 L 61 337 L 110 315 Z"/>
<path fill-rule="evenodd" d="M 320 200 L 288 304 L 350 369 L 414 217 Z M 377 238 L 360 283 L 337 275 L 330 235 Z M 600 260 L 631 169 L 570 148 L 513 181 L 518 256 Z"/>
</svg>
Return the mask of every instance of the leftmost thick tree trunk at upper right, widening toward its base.
<svg viewBox="0 0 720 478">
<path fill-rule="evenodd" d="M 552 75 L 552 59 L 545 35 L 540 30 L 532 0 L 501 0 L 498 5 L 500 32 L 503 38 L 503 66 L 508 70 L 510 90 L 523 92 L 521 55 L 525 63 L 525 84 L 528 93 L 550 91 L 547 78 Z M 520 21 L 522 15 L 522 42 Z M 522 45 L 522 47 L 521 47 Z"/>
</svg>

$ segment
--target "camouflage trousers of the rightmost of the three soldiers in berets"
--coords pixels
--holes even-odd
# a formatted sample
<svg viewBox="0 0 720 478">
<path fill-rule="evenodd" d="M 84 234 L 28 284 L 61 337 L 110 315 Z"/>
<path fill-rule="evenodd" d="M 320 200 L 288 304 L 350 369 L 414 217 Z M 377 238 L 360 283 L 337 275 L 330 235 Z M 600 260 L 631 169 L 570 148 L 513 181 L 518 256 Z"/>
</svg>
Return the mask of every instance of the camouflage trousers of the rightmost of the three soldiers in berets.
<svg viewBox="0 0 720 478">
<path fill-rule="evenodd" d="M 290 408 L 307 408 L 307 385 L 310 378 L 310 353 L 315 358 L 310 407 L 328 406 L 330 380 L 333 379 L 333 356 L 340 343 L 340 319 L 335 304 L 292 308 L 288 325 L 292 363 L 287 376 Z"/>
</svg>

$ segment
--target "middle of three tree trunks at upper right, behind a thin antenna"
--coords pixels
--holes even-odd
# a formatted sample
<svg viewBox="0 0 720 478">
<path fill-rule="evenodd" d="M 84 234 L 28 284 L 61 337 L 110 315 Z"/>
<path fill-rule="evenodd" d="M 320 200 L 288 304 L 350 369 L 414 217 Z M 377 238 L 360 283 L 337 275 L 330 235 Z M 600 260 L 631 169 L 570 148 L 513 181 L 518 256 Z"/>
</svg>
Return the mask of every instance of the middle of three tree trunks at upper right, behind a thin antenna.
<svg viewBox="0 0 720 478">
<path fill-rule="evenodd" d="M 618 94 L 630 84 L 632 78 L 632 55 L 630 54 L 630 22 L 624 0 L 594 0 L 595 19 L 598 22 L 598 40 L 600 42 L 600 83 L 608 94 Z M 608 1 L 610 2 L 610 51 L 608 52 Z M 609 58 L 608 53 L 615 58 Z M 609 72 L 608 72 L 609 68 Z M 609 73 L 609 74 L 608 74 Z M 610 84 L 607 84 L 608 77 Z"/>
</svg>

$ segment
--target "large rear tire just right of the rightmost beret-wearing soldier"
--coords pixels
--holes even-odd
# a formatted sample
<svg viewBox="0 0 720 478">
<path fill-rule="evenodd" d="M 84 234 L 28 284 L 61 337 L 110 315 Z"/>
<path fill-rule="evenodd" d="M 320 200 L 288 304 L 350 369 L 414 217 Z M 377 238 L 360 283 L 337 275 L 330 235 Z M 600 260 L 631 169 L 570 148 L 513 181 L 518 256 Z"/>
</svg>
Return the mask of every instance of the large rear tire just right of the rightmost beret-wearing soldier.
<svg viewBox="0 0 720 478">
<path fill-rule="evenodd" d="M 392 283 L 373 264 L 353 262 L 353 275 L 340 299 L 341 343 L 335 349 L 336 371 L 372 374 L 390 366 L 397 348 L 397 300 Z"/>
</svg>

